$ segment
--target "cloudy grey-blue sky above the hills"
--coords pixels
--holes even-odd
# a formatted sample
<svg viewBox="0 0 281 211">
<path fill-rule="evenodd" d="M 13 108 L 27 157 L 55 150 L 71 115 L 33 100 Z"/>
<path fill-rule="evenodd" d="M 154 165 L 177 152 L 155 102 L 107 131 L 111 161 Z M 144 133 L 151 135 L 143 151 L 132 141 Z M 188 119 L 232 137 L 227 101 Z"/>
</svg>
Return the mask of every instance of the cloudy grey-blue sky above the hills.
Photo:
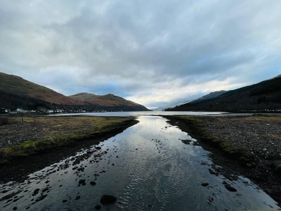
<svg viewBox="0 0 281 211">
<path fill-rule="evenodd" d="M 280 0 L 0 0 L 0 72 L 155 108 L 281 74 L 280 11 Z"/>
</svg>

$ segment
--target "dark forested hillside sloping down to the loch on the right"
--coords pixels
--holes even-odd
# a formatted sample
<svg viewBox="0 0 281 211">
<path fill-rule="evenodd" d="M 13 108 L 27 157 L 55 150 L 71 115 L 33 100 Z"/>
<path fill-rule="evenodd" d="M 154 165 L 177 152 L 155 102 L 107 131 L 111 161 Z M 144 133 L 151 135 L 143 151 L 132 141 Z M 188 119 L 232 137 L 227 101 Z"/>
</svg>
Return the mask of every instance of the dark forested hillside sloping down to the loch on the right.
<svg viewBox="0 0 281 211">
<path fill-rule="evenodd" d="M 254 111 L 281 109 L 281 76 L 227 91 L 214 99 L 185 103 L 166 111 Z"/>
</svg>

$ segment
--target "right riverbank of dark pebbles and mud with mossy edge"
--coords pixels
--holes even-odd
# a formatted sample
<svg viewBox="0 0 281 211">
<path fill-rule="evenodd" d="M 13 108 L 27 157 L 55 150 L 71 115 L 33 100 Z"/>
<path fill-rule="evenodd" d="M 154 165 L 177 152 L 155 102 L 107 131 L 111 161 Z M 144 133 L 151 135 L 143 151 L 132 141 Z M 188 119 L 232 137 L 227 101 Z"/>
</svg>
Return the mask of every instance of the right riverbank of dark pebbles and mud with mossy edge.
<svg viewBox="0 0 281 211">
<path fill-rule="evenodd" d="M 235 172 L 253 180 L 280 205 L 280 116 L 164 117 L 212 152 L 209 157 L 219 174 L 235 180 Z"/>
</svg>

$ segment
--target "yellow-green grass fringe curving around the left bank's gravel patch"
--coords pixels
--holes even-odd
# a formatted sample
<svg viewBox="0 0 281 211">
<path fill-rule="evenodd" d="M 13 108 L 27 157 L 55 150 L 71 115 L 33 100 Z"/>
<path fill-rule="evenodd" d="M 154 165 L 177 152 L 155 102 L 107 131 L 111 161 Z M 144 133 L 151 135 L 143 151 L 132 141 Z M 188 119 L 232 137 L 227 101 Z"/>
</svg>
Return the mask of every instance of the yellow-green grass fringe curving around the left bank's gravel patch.
<svg viewBox="0 0 281 211">
<path fill-rule="evenodd" d="M 78 141 L 93 139 L 120 129 L 125 129 L 136 124 L 137 120 L 127 118 L 104 117 L 38 117 L 26 118 L 25 121 L 39 121 L 48 124 L 67 126 L 68 131 L 75 133 L 63 133 L 46 136 L 38 141 L 24 141 L 16 146 L 10 146 L 0 150 L 0 164 L 6 163 L 12 158 L 26 157 L 39 152 L 44 152 L 56 147 L 76 145 Z"/>
</svg>

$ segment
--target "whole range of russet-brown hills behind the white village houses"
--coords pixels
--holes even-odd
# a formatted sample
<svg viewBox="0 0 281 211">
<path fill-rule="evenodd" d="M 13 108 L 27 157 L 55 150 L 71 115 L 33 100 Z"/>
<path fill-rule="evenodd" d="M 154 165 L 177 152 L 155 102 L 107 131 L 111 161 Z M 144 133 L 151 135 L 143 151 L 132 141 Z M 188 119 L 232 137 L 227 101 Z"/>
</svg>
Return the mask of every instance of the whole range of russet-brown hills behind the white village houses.
<svg viewBox="0 0 281 211">
<path fill-rule="evenodd" d="M 110 109 L 110 111 L 149 111 L 138 103 L 115 95 L 85 94 L 87 95 L 80 96 L 81 98 L 68 97 L 19 76 L 0 73 L 0 108 L 14 110 L 17 108 L 37 109 L 37 107 L 44 107 L 65 110 L 84 109 L 86 111 L 104 109 Z"/>
</svg>

